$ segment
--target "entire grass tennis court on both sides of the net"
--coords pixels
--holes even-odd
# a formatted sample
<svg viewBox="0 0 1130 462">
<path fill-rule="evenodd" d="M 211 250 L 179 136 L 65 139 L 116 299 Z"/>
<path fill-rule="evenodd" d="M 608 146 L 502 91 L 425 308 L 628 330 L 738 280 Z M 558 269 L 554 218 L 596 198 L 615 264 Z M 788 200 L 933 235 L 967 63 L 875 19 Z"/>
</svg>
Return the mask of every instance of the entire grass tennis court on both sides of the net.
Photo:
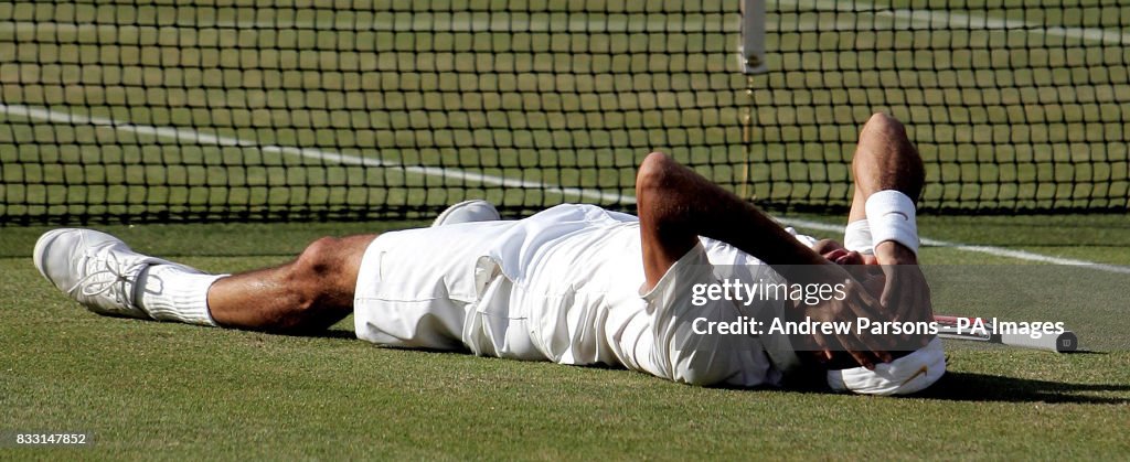
<svg viewBox="0 0 1130 462">
<path fill-rule="evenodd" d="M 98 228 L 240 271 L 464 198 L 631 208 L 653 149 L 777 209 L 836 207 L 860 124 L 889 111 L 932 208 L 1119 210 L 920 217 L 948 244 L 922 250 L 939 277 L 999 277 L 939 279 L 939 313 L 1066 321 L 1092 351 L 948 343 L 948 375 L 905 399 L 702 389 L 376 348 L 350 320 L 284 337 L 102 317 L 36 273 L 46 227 L 3 226 L 0 435 L 95 445 L 0 459 L 1130 454 L 1127 274 L 1008 256 L 1130 265 L 1130 7 L 779 0 L 771 72 L 747 79 L 734 1 L 251 3 L 0 2 L 3 225 L 131 219 Z M 347 223 L 241 223 L 324 217 Z"/>
</svg>

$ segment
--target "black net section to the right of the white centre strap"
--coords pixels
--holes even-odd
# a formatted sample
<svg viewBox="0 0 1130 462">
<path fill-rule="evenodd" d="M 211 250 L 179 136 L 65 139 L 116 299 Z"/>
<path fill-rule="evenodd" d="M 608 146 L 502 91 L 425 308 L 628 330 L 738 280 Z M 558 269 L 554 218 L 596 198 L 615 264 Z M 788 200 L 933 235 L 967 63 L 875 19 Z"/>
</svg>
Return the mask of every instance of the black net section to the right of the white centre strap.
<svg viewBox="0 0 1130 462">
<path fill-rule="evenodd" d="M 1124 3 L 1124 2 L 1123 2 Z M 1127 211 L 1130 5 L 779 0 L 753 79 L 755 191 L 846 206 L 858 124 L 886 111 L 927 163 L 923 207 Z"/>
</svg>

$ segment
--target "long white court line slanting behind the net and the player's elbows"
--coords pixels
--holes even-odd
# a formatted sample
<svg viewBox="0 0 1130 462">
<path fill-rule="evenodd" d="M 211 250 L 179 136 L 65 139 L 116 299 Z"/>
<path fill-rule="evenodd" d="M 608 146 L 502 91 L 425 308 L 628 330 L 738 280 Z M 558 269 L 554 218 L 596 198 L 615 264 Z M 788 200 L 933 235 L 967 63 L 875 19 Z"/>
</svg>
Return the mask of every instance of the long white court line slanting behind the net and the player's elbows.
<svg viewBox="0 0 1130 462">
<path fill-rule="evenodd" d="M 209 146 L 234 146 L 234 147 L 246 147 L 255 148 L 262 152 L 293 156 L 307 159 L 318 159 L 322 162 L 338 163 L 341 165 L 363 165 L 372 167 L 395 167 L 402 168 L 405 172 L 411 172 L 420 175 L 438 176 L 443 178 L 459 180 L 464 182 L 477 182 L 483 184 L 499 185 L 506 188 L 521 188 L 521 189 L 538 189 L 546 190 L 549 192 L 563 194 L 563 195 L 574 195 L 580 199 L 597 200 L 601 202 L 611 202 L 615 204 L 633 204 L 635 203 L 635 197 L 628 194 L 614 194 L 598 190 L 590 190 L 583 188 L 562 188 L 551 185 L 548 183 L 542 183 L 538 181 L 528 180 L 514 180 L 504 176 L 486 175 L 481 173 L 473 173 L 461 171 L 458 168 L 446 168 L 446 167 L 420 167 L 403 165 L 397 162 L 374 159 L 368 157 L 350 156 L 339 152 L 330 152 L 320 149 L 310 148 L 296 148 L 289 146 L 276 146 L 276 145 L 260 145 L 254 141 L 249 141 L 240 138 L 233 137 L 219 137 L 215 134 L 201 133 L 194 130 L 177 129 L 177 128 L 160 128 L 150 125 L 139 125 L 132 123 L 125 123 L 115 121 L 112 119 L 95 117 L 79 114 L 70 114 L 64 112 L 44 110 L 38 107 L 28 107 L 17 104 L 3 104 L 0 103 L 0 113 L 7 115 L 21 116 L 27 119 L 36 119 L 54 123 L 69 123 L 69 124 L 82 124 L 82 125 L 96 125 L 96 127 L 107 127 L 114 130 L 124 131 L 128 133 L 150 136 L 156 138 L 173 139 L 177 141 L 194 142 L 198 145 L 209 145 Z M 811 221 L 806 219 L 796 218 L 784 218 L 781 219 L 786 225 L 798 226 L 802 228 L 810 228 L 817 230 L 824 230 L 829 233 L 843 234 L 844 227 L 837 225 L 829 225 L 826 223 Z M 1052 263 L 1052 264 L 1069 264 L 1069 265 L 1086 265 L 1087 268 L 1094 268 L 1096 270 L 1118 272 L 1130 274 L 1130 267 L 1120 267 L 1114 264 L 1102 264 L 1094 263 L 1084 260 L 1074 259 L 1061 259 L 1058 256 L 1043 255 L 1033 252 L 1016 251 L 1009 249 L 993 247 L 988 245 L 971 245 L 962 244 L 955 242 L 936 241 L 923 238 L 922 244 L 938 247 L 950 247 L 959 251 L 984 253 L 989 255 L 1007 256 L 1017 260 L 1035 261 L 1041 263 Z"/>
</svg>

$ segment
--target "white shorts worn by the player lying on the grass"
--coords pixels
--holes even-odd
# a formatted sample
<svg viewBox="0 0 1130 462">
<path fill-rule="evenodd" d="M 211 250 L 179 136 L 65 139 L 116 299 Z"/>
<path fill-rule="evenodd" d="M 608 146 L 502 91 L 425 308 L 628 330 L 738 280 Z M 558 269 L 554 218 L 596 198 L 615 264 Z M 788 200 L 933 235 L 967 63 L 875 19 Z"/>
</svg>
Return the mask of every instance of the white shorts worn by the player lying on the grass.
<svg viewBox="0 0 1130 462">
<path fill-rule="evenodd" d="M 385 233 L 362 258 L 354 294 L 357 338 L 373 343 L 544 360 L 511 280 L 484 274 L 484 250 L 515 221 Z M 464 226 L 476 227 L 468 232 Z"/>
</svg>

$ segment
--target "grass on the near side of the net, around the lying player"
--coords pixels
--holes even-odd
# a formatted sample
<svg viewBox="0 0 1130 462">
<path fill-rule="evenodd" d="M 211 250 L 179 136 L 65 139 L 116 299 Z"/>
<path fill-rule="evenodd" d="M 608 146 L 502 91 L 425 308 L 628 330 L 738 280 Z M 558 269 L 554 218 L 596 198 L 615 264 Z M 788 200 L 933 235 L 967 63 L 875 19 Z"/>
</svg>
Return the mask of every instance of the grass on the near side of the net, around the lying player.
<svg viewBox="0 0 1130 462">
<path fill-rule="evenodd" d="M 219 271 L 280 263 L 322 234 L 411 225 L 420 224 L 106 229 L 141 251 Z M 1118 264 L 1130 263 L 1127 226 L 1122 216 L 923 217 L 921 225 L 931 238 Z M 297 338 L 102 317 L 36 273 L 28 255 L 42 229 L 8 228 L 0 238 L 0 428 L 94 432 L 96 446 L 0 448 L 18 459 L 1118 459 L 1130 451 L 1121 297 L 1080 331 L 1085 348 L 1103 339 L 1103 351 L 950 343 L 950 371 L 924 396 L 716 390 L 624 371 L 375 348 L 350 339 L 349 320 L 327 337 Z M 1018 263 L 936 247 L 923 259 Z M 935 287 L 936 303 L 955 290 Z M 994 315 L 993 297 L 1009 295 L 976 296 L 985 298 L 976 314 Z M 1071 328 L 1084 317 L 1060 316 Z"/>
</svg>

